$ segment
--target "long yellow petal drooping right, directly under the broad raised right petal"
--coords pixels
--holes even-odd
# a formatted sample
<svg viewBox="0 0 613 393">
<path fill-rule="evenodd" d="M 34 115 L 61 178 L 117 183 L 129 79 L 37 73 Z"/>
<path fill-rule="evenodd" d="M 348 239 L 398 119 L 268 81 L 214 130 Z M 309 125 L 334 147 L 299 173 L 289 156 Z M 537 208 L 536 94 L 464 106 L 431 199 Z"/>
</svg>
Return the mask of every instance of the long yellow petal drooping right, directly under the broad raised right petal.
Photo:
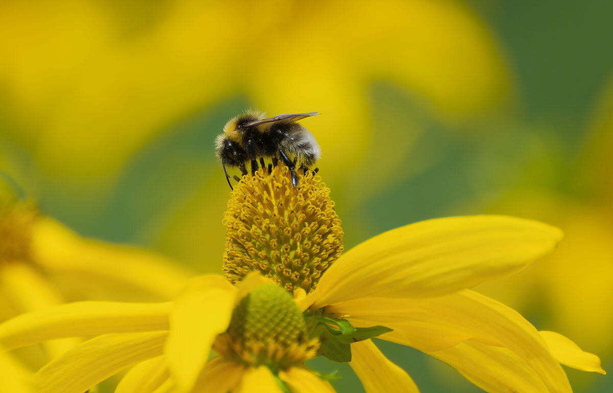
<svg viewBox="0 0 613 393">
<path fill-rule="evenodd" d="M 570 392 L 565 372 L 535 327 L 511 308 L 473 291 L 432 299 L 352 300 L 326 311 L 348 315 L 355 326 L 366 323 L 395 329 L 380 338 L 422 351 L 468 339 L 503 346 L 524 359 L 550 391 Z"/>
</svg>

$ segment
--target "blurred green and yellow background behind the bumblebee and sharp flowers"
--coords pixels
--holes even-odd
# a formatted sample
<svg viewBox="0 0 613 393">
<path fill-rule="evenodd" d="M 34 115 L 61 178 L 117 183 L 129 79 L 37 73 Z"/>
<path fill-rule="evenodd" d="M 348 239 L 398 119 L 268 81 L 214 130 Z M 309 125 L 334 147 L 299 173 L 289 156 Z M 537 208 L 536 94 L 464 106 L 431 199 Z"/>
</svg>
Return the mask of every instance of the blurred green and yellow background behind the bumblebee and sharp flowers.
<svg viewBox="0 0 613 393">
<path fill-rule="evenodd" d="M 346 248 L 421 219 L 562 227 L 555 254 L 478 288 L 613 368 L 613 2 L 0 2 L 0 164 L 80 234 L 219 272 L 213 140 L 249 107 L 317 110 Z M 478 392 L 377 341 L 422 392 Z M 361 392 L 349 367 L 339 392 Z M 574 391 L 609 376 L 566 369 Z"/>
</svg>

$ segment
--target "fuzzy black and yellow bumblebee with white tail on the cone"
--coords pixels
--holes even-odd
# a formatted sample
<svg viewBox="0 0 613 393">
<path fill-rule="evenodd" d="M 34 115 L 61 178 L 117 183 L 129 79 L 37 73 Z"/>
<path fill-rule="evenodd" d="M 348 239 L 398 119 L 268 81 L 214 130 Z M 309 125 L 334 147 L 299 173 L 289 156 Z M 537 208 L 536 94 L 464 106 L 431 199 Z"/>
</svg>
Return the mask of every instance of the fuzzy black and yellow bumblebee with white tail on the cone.
<svg viewBox="0 0 613 393">
<path fill-rule="evenodd" d="M 296 167 L 307 170 L 321 157 L 313 134 L 297 121 L 318 114 L 283 113 L 266 118 L 262 112 L 249 110 L 228 121 L 223 134 L 215 139 L 215 151 L 230 188 L 226 166 L 238 167 L 246 175 L 246 165 L 251 163 L 253 175 L 258 169 L 258 159 L 264 168 L 264 158 L 271 158 L 273 162 L 281 159 L 289 167 L 295 187 L 298 183 Z"/>
</svg>

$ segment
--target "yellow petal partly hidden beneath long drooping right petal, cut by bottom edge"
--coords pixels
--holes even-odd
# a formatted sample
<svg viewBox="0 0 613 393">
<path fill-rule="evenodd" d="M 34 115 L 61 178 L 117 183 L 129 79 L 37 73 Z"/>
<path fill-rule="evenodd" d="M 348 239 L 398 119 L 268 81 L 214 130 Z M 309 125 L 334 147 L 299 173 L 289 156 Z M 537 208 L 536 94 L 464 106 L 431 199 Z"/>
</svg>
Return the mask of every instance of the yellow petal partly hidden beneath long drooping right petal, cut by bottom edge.
<svg viewBox="0 0 613 393">
<path fill-rule="evenodd" d="M 530 365 L 506 348 L 466 341 L 427 354 L 451 365 L 486 392 L 559 392 L 548 389 Z M 569 389 L 565 391 L 570 392 Z"/>
</svg>

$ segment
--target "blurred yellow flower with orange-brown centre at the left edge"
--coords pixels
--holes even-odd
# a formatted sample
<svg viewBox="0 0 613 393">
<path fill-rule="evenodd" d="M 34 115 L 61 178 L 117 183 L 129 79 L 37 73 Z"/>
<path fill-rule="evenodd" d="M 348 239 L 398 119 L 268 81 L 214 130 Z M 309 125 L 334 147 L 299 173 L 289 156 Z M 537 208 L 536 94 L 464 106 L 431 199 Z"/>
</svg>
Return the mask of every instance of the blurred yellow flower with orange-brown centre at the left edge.
<svg viewBox="0 0 613 393">
<path fill-rule="evenodd" d="M 0 281 L 13 311 L 47 307 L 63 295 L 91 299 L 94 280 L 112 287 L 113 299 L 170 299 L 188 277 L 145 250 L 83 239 L 27 202 L 0 206 Z M 84 282 L 68 283 L 77 279 Z M 58 281 L 66 286 L 56 286 Z"/>
</svg>

